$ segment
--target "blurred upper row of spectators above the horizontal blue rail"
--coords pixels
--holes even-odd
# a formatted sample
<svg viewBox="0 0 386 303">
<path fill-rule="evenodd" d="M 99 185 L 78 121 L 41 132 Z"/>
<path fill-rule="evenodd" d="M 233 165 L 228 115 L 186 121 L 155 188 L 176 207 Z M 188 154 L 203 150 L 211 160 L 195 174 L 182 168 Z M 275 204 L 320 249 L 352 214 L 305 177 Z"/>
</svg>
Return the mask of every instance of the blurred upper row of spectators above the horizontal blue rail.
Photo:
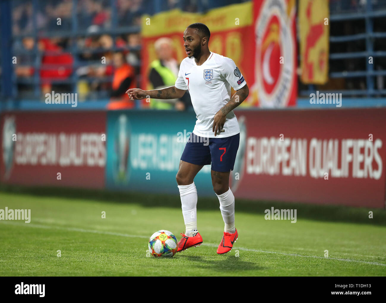
<svg viewBox="0 0 386 303">
<path fill-rule="evenodd" d="M 13 34 L 27 34 L 34 31 L 34 19 L 39 34 L 56 31 L 71 31 L 73 22 L 77 22 L 78 30 L 98 31 L 112 26 L 140 25 L 140 16 L 149 14 L 143 0 L 116 0 L 116 20 L 112 20 L 111 0 L 78 0 L 73 16 L 72 0 L 37 0 L 33 7 L 32 1 L 15 1 L 12 7 Z M 35 10 L 34 10 L 35 9 Z M 58 18 L 61 25 L 58 26 Z"/>
</svg>

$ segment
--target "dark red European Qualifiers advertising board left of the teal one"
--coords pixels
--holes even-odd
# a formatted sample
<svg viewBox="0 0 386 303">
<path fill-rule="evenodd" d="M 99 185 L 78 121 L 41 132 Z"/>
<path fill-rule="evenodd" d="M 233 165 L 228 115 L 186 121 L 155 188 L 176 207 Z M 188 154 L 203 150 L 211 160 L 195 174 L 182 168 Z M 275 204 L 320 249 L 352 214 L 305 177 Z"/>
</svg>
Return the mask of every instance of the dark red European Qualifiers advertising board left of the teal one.
<svg viewBox="0 0 386 303">
<path fill-rule="evenodd" d="M 1 182 L 103 188 L 106 112 L 4 112 Z"/>
</svg>

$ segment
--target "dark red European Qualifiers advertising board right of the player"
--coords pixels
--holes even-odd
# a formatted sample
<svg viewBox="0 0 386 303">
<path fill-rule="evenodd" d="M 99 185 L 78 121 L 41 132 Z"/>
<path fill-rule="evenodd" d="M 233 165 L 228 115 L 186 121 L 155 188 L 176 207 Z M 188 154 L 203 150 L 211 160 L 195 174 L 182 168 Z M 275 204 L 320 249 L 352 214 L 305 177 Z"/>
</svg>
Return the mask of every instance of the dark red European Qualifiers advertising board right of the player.
<svg viewBox="0 0 386 303">
<path fill-rule="evenodd" d="M 235 196 L 385 207 L 385 108 L 236 115 L 243 145 Z"/>
</svg>

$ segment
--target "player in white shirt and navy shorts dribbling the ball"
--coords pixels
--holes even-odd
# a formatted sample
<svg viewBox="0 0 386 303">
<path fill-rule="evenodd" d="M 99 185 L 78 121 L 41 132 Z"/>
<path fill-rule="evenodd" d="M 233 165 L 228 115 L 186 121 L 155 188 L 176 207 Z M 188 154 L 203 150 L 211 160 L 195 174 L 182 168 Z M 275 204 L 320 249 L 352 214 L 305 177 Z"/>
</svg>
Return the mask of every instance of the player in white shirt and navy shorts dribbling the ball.
<svg viewBox="0 0 386 303">
<path fill-rule="evenodd" d="M 212 163 L 213 190 L 220 201 L 225 223 L 217 254 L 225 254 L 232 249 L 238 237 L 235 197 L 229 187 L 229 175 L 234 168 L 240 141 L 239 123 L 233 109 L 245 100 L 249 89 L 232 59 L 209 51 L 210 31 L 205 24 L 190 24 L 183 38 L 188 57 L 181 62 L 174 86 L 148 91 L 129 89 L 126 93 L 134 100 L 146 96 L 174 99 L 181 98 L 186 90 L 190 92 L 197 121 L 176 175 L 186 226 L 177 252 L 200 246 L 203 242 L 197 230 L 197 190 L 193 180 L 204 165 Z M 236 90 L 232 97 L 231 86 Z"/>
</svg>

